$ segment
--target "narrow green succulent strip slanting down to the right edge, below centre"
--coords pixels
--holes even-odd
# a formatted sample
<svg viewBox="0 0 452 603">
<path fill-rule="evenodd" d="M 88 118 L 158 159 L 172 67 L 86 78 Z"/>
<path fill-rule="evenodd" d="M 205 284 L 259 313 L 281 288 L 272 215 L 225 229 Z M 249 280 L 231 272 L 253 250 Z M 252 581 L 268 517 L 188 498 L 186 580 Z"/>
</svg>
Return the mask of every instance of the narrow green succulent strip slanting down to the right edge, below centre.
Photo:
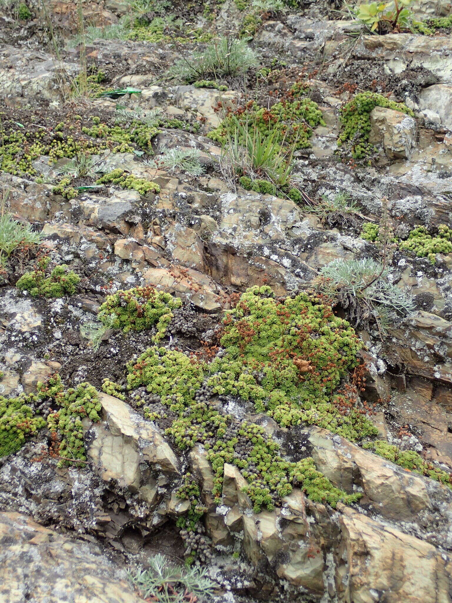
<svg viewBox="0 0 452 603">
<path fill-rule="evenodd" d="M 408 469 L 427 478 L 435 479 L 435 481 L 440 482 L 448 488 L 452 488 L 451 474 L 439 469 L 433 463 L 425 461 L 415 450 L 400 450 L 399 446 L 388 444 L 385 440 L 366 442 L 363 444 L 363 448 L 372 450 L 372 452 L 388 459 L 391 463 L 403 467 L 403 469 Z"/>
</svg>

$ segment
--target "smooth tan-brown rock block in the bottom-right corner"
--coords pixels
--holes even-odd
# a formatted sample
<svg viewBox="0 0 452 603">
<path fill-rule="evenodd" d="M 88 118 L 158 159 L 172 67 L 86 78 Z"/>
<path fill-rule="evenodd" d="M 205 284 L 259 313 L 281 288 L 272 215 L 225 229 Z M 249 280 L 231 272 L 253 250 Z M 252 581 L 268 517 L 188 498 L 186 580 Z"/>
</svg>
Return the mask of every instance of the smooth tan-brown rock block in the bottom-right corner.
<svg viewBox="0 0 452 603">
<path fill-rule="evenodd" d="M 340 601 L 448 603 L 450 557 L 432 545 L 342 504 L 342 544 L 337 551 Z M 347 579 L 345 576 L 348 576 Z"/>
</svg>

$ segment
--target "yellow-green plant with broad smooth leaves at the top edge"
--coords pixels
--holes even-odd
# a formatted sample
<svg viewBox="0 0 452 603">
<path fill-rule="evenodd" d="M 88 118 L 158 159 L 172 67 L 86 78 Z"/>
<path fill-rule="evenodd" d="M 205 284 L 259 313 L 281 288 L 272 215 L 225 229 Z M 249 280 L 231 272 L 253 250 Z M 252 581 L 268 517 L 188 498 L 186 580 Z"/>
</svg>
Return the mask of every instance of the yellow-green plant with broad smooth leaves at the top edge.
<svg viewBox="0 0 452 603">
<path fill-rule="evenodd" d="M 358 4 L 354 7 L 353 14 L 371 31 L 377 33 L 400 31 L 412 27 L 414 14 L 409 8 L 412 1 L 393 0 Z"/>
</svg>

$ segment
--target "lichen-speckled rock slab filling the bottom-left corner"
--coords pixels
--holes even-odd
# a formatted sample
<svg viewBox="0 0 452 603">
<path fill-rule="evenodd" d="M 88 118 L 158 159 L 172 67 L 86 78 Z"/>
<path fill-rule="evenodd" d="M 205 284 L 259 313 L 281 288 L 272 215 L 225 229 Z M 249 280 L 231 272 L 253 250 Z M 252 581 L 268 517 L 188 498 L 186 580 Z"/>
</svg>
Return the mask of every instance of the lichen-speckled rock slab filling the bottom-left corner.
<svg viewBox="0 0 452 603">
<path fill-rule="evenodd" d="M 98 546 L 0 513 L 0 599 L 4 603 L 139 603 L 126 572 Z"/>
</svg>

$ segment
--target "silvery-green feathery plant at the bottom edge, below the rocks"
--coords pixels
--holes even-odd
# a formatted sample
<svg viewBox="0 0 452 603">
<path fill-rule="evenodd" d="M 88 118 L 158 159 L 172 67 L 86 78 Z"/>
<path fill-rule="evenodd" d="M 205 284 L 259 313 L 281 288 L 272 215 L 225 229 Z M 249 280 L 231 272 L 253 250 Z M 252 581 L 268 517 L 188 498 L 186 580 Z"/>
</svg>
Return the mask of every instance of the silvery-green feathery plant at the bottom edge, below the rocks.
<svg viewBox="0 0 452 603">
<path fill-rule="evenodd" d="M 149 568 L 129 572 L 140 595 L 157 603 L 183 603 L 213 595 L 215 583 L 205 567 L 177 566 L 161 554 L 149 558 Z"/>
</svg>

